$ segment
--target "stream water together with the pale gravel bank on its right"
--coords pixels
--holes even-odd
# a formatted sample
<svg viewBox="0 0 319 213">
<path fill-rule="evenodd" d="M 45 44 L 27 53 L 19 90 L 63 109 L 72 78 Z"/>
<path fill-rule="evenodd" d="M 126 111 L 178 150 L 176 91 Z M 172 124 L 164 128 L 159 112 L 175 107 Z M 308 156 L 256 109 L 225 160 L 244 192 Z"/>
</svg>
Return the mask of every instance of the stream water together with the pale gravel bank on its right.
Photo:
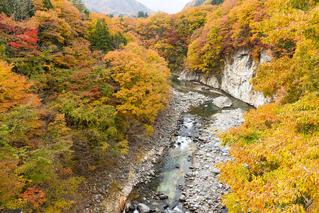
<svg viewBox="0 0 319 213">
<path fill-rule="evenodd" d="M 149 181 L 138 184 L 128 201 L 132 208 L 145 204 L 153 212 L 228 212 L 219 196 L 230 189 L 218 181 L 214 165 L 231 158 L 229 148 L 220 147 L 214 131 L 239 126 L 242 114 L 252 107 L 196 82 L 172 78 L 172 87 L 185 96 L 204 95 L 207 101 L 191 106 L 181 116 L 171 146 L 147 173 Z M 220 96 L 228 97 L 233 105 L 224 109 L 216 107 L 212 99 Z"/>
</svg>

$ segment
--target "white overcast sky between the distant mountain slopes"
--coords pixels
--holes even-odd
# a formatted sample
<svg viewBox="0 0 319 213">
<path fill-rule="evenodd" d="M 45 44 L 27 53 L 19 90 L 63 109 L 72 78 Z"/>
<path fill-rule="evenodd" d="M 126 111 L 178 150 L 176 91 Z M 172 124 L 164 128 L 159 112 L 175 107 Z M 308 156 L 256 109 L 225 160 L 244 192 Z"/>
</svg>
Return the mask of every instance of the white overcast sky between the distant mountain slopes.
<svg viewBox="0 0 319 213">
<path fill-rule="evenodd" d="M 137 0 L 153 11 L 178 13 L 191 0 Z"/>
</svg>

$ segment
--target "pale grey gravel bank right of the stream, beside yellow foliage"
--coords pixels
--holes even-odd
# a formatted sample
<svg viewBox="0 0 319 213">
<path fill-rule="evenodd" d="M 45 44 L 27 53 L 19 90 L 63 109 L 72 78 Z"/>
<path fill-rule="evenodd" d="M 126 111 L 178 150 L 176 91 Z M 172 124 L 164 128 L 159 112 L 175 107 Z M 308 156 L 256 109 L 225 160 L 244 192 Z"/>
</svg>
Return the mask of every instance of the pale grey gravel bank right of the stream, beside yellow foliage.
<svg viewBox="0 0 319 213">
<path fill-rule="evenodd" d="M 186 174 L 186 185 L 180 200 L 192 212 L 227 212 L 221 203 L 220 195 L 230 189 L 218 180 L 220 170 L 216 163 L 231 160 L 228 146 L 220 146 L 220 138 L 216 133 L 240 126 L 242 109 L 224 110 L 206 119 L 208 124 L 203 126 L 196 144 L 198 151 L 194 155 L 192 172 Z"/>
</svg>

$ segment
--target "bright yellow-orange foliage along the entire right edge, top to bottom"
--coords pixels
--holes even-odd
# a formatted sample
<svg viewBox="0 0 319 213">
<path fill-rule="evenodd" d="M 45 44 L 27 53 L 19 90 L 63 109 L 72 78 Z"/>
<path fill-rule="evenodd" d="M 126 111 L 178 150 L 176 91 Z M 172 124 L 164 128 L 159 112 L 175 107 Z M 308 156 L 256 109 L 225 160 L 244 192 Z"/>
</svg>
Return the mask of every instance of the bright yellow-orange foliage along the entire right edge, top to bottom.
<svg viewBox="0 0 319 213">
<path fill-rule="evenodd" d="M 283 54 L 262 64 L 252 83 L 276 103 L 250 111 L 242 126 L 221 135 L 235 159 L 218 165 L 232 188 L 223 202 L 230 212 L 318 212 L 318 3 L 265 4 L 268 16 L 255 30 Z"/>
</svg>

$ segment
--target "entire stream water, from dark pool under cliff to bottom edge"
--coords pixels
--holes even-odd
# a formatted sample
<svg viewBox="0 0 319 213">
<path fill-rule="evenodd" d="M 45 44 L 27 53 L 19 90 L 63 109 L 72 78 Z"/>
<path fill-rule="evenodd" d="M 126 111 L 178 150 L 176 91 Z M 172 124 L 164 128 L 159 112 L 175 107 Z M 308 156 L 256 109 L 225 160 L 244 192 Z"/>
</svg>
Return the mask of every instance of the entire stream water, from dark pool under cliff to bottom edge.
<svg viewBox="0 0 319 213">
<path fill-rule="evenodd" d="M 172 87 L 179 92 L 198 92 L 209 97 L 227 96 L 233 102 L 233 106 L 227 109 L 241 108 L 246 111 L 252 109 L 249 104 L 245 104 L 229 94 L 218 89 L 203 86 L 196 82 L 179 81 L 172 79 Z M 176 136 L 172 136 L 172 148 L 169 148 L 167 155 L 164 155 L 161 163 L 155 165 L 157 178 L 153 178 L 150 183 L 140 184 L 135 187 L 128 200 L 131 202 L 145 203 L 150 209 L 156 209 L 157 212 L 187 212 L 183 205 L 178 202 L 181 196 L 180 186 L 185 185 L 184 176 L 191 172 L 192 157 L 196 151 L 198 130 L 203 125 L 203 119 L 210 118 L 216 114 L 219 109 L 211 102 L 202 104 L 199 107 L 191 107 L 188 114 L 184 114 L 179 124 L 179 131 Z M 159 195 L 167 195 L 167 199 L 160 200 Z M 169 208 L 164 209 L 164 207 Z M 135 212 L 137 212 L 135 210 Z"/>
</svg>

